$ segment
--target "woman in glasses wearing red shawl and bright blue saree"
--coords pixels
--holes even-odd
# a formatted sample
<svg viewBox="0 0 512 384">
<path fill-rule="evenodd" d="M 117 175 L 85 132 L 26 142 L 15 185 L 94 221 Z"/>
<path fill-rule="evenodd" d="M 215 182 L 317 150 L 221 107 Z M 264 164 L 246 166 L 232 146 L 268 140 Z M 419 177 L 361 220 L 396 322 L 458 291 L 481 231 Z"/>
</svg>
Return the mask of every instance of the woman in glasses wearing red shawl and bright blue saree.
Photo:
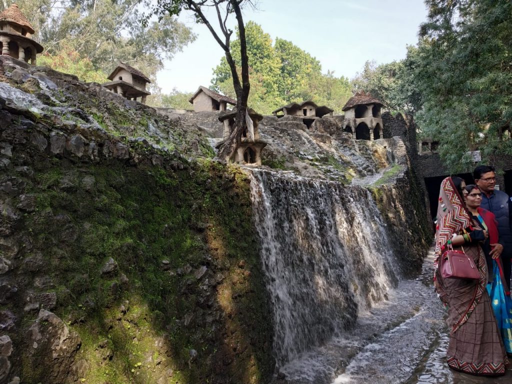
<svg viewBox="0 0 512 384">
<path fill-rule="evenodd" d="M 499 253 L 493 252 L 494 247 L 501 247 L 501 244 L 498 243 L 499 233 L 496 218 L 493 212 L 480 207 L 482 193 L 478 186 L 467 185 L 464 188 L 464 194 L 466 207 L 473 216 L 473 221 L 478 221 L 489 234 L 482 245 L 488 269 L 487 293 L 490 296 L 505 351 L 510 355 L 512 354 L 512 299 L 507 285 L 504 283 L 505 275 Z"/>
</svg>

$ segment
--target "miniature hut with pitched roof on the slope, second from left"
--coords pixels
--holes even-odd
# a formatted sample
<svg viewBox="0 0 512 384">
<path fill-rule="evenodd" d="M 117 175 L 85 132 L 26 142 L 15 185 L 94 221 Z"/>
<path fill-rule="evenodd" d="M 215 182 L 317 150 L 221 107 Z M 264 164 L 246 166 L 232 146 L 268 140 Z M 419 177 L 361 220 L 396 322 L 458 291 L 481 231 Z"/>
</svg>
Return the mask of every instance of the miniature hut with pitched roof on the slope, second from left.
<svg viewBox="0 0 512 384">
<path fill-rule="evenodd" d="M 119 62 L 119 65 L 109 75 L 108 79 L 111 81 L 103 83 L 103 87 L 128 100 L 137 100 L 140 97 L 140 102 L 145 104 L 146 96 L 151 95 L 150 92 L 146 91 L 146 83 L 150 83 L 150 79 L 124 62 Z"/>
</svg>

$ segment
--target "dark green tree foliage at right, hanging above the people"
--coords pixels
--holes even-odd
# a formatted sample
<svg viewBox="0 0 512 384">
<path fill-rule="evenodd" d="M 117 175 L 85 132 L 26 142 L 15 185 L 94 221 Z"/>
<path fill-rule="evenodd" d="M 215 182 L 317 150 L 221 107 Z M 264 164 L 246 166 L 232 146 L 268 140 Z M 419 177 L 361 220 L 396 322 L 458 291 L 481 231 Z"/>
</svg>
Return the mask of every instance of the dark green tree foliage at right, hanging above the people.
<svg viewBox="0 0 512 384">
<path fill-rule="evenodd" d="M 428 22 L 416 52 L 406 61 L 421 94 L 417 120 L 441 142 L 453 171 L 467 169 L 467 151 L 484 161 L 512 155 L 503 136 L 512 119 L 512 2 L 427 0 Z"/>
</svg>

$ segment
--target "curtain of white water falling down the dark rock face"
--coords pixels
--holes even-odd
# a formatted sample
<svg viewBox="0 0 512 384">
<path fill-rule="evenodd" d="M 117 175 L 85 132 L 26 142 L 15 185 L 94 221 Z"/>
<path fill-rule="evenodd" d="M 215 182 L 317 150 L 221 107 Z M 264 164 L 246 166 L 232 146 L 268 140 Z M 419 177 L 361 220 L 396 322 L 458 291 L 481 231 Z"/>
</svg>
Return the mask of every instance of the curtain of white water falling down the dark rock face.
<svg viewBox="0 0 512 384">
<path fill-rule="evenodd" d="M 386 300 L 398 268 L 367 189 L 260 169 L 250 177 L 282 366 Z"/>
</svg>

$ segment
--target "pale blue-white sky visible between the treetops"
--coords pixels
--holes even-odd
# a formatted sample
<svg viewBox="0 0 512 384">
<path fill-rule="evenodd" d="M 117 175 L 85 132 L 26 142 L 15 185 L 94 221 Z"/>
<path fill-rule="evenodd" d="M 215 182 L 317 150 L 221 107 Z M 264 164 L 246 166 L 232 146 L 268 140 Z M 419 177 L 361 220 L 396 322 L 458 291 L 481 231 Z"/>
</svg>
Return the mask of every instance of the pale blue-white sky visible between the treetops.
<svg viewBox="0 0 512 384">
<path fill-rule="evenodd" d="M 407 45 L 416 44 L 426 14 L 423 0 L 259 0 L 258 9 L 245 10 L 243 17 L 261 25 L 272 40 L 290 40 L 316 57 L 324 73 L 351 79 L 367 60 L 403 59 Z M 195 24 L 189 14 L 179 19 L 197 39 L 164 62 L 157 74 L 162 93 L 209 87 L 224 55 L 206 26 Z"/>
</svg>

